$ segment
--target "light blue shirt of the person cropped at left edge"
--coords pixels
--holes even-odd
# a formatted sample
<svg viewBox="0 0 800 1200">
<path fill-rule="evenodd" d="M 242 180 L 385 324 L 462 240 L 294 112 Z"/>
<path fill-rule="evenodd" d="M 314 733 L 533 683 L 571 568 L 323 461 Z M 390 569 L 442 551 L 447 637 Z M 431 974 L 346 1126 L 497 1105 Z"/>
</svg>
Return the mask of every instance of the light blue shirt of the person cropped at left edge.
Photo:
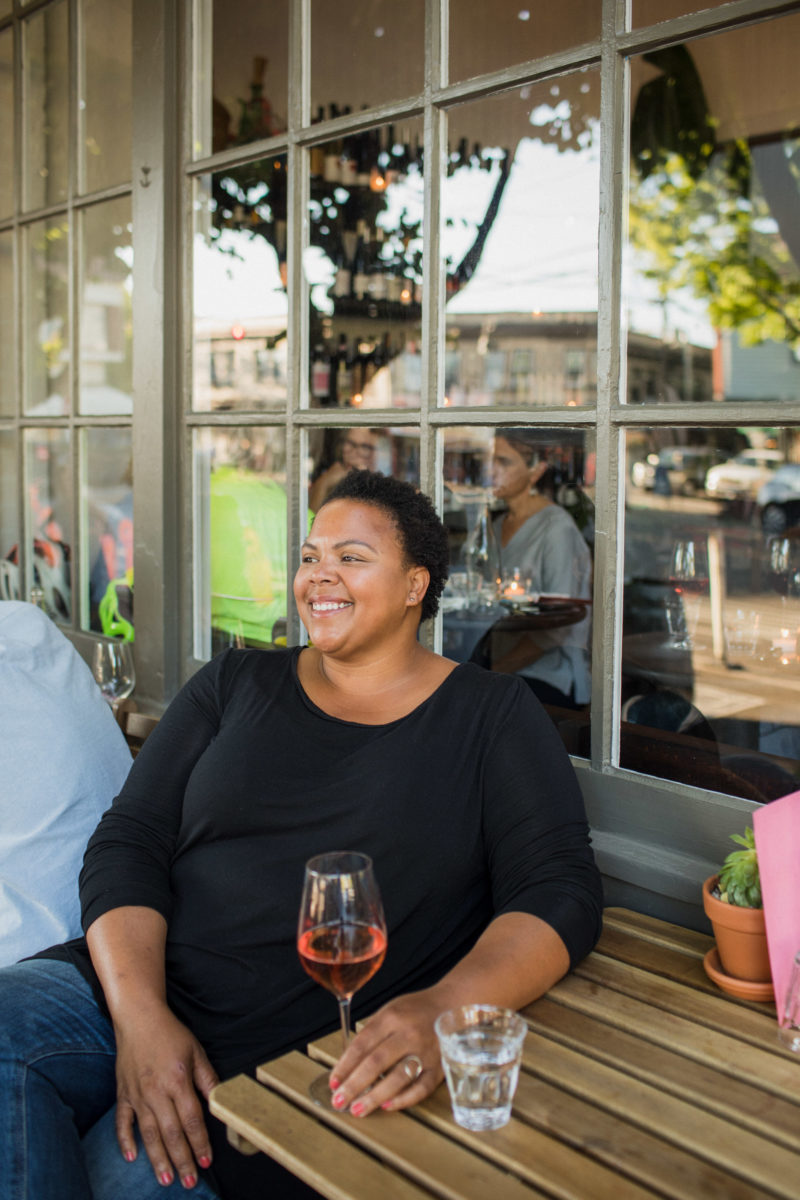
<svg viewBox="0 0 800 1200">
<path fill-rule="evenodd" d="M 80 932 L 86 842 L 131 769 L 91 671 L 36 605 L 0 601 L 0 965 Z"/>
</svg>

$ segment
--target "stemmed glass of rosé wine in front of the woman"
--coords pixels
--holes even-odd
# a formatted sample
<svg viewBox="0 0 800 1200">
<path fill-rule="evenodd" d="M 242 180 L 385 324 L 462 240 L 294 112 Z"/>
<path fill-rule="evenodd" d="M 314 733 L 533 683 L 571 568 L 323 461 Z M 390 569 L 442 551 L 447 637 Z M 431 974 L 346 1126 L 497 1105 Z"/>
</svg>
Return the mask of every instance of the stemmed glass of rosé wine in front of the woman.
<svg viewBox="0 0 800 1200">
<path fill-rule="evenodd" d="M 342 1051 L 350 1037 L 350 1001 L 386 954 L 386 922 L 372 859 L 355 851 L 318 854 L 306 863 L 297 920 L 297 954 L 308 974 L 336 996 Z M 311 1094 L 330 1104 L 327 1075 Z"/>
</svg>

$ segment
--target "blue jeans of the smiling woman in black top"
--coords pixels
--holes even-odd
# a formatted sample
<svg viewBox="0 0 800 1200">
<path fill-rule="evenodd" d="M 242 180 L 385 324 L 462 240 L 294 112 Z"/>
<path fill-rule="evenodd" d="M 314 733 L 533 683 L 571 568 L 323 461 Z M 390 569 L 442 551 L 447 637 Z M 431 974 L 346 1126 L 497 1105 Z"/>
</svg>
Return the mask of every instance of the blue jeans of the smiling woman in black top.
<svg viewBox="0 0 800 1200">
<path fill-rule="evenodd" d="M 191 1190 L 158 1183 L 140 1140 L 125 1162 L 115 1057 L 112 1025 L 72 964 L 0 970 L 2 1200 L 217 1200 L 204 1178 Z"/>
</svg>

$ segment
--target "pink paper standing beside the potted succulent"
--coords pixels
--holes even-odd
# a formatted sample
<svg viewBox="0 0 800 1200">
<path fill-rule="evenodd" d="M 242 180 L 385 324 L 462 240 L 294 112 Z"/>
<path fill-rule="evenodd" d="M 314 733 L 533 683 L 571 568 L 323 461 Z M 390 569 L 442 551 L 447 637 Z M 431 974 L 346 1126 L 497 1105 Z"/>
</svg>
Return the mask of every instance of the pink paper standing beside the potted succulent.
<svg viewBox="0 0 800 1200">
<path fill-rule="evenodd" d="M 792 961 L 800 950 L 800 792 L 756 809 L 753 833 L 775 1003 L 783 1025 Z"/>
</svg>

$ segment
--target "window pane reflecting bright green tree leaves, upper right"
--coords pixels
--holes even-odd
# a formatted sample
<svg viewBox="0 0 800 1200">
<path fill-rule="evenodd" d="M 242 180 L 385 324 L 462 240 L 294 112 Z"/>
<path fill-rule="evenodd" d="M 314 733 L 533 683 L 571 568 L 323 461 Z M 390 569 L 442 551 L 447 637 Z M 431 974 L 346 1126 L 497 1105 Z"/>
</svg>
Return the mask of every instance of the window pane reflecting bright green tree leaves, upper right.
<svg viewBox="0 0 800 1200">
<path fill-rule="evenodd" d="M 628 401 L 800 398 L 800 16 L 631 62 Z"/>
</svg>

